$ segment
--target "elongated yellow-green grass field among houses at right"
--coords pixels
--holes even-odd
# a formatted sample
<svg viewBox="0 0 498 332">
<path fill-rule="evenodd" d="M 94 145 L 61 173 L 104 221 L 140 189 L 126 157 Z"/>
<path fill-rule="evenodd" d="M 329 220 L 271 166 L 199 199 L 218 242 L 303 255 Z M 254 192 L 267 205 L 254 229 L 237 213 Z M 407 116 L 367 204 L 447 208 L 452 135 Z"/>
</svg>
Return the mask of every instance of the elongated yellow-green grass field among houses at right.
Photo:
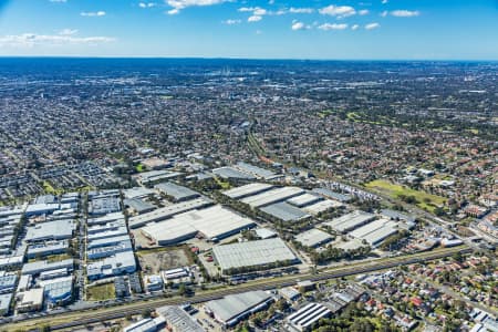
<svg viewBox="0 0 498 332">
<path fill-rule="evenodd" d="M 427 211 L 434 212 L 438 206 L 443 206 L 446 198 L 427 194 L 422 190 L 415 190 L 402 185 L 396 185 L 384 179 L 376 179 L 365 185 L 366 188 L 381 191 L 394 199 L 400 199 L 400 196 L 413 196 L 417 200 L 417 206 Z"/>
</svg>

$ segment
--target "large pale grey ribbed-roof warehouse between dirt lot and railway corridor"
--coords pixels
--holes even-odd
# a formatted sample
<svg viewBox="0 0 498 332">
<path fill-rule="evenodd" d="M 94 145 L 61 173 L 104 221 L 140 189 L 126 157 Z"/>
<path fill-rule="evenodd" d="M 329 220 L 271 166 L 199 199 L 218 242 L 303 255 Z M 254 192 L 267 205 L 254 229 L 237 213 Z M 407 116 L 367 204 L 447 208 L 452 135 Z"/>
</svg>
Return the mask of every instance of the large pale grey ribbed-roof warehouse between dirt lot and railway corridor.
<svg viewBox="0 0 498 332">
<path fill-rule="evenodd" d="M 277 267 L 279 262 L 299 262 L 280 238 L 217 246 L 212 248 L 212 255 L 224 273 L 234 269 L 266 269 Z"/>
</svg>

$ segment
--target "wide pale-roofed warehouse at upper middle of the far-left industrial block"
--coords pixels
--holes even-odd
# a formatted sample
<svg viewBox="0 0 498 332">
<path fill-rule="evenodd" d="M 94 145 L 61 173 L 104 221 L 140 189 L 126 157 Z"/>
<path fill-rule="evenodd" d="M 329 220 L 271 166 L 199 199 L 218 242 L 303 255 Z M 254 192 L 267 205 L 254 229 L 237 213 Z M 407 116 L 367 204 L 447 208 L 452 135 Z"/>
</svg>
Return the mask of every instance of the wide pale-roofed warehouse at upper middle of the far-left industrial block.
<svg viewBox="0 0 498 332">
<path fill-rule="evenodd" d="M 25 241 L 45 241 L 45 240 L 64 240 L 73 237 L 76 225 L 73 220 L 56 220 L 40 222 L 35 226 L 28 227 Z"/>
</svg>

